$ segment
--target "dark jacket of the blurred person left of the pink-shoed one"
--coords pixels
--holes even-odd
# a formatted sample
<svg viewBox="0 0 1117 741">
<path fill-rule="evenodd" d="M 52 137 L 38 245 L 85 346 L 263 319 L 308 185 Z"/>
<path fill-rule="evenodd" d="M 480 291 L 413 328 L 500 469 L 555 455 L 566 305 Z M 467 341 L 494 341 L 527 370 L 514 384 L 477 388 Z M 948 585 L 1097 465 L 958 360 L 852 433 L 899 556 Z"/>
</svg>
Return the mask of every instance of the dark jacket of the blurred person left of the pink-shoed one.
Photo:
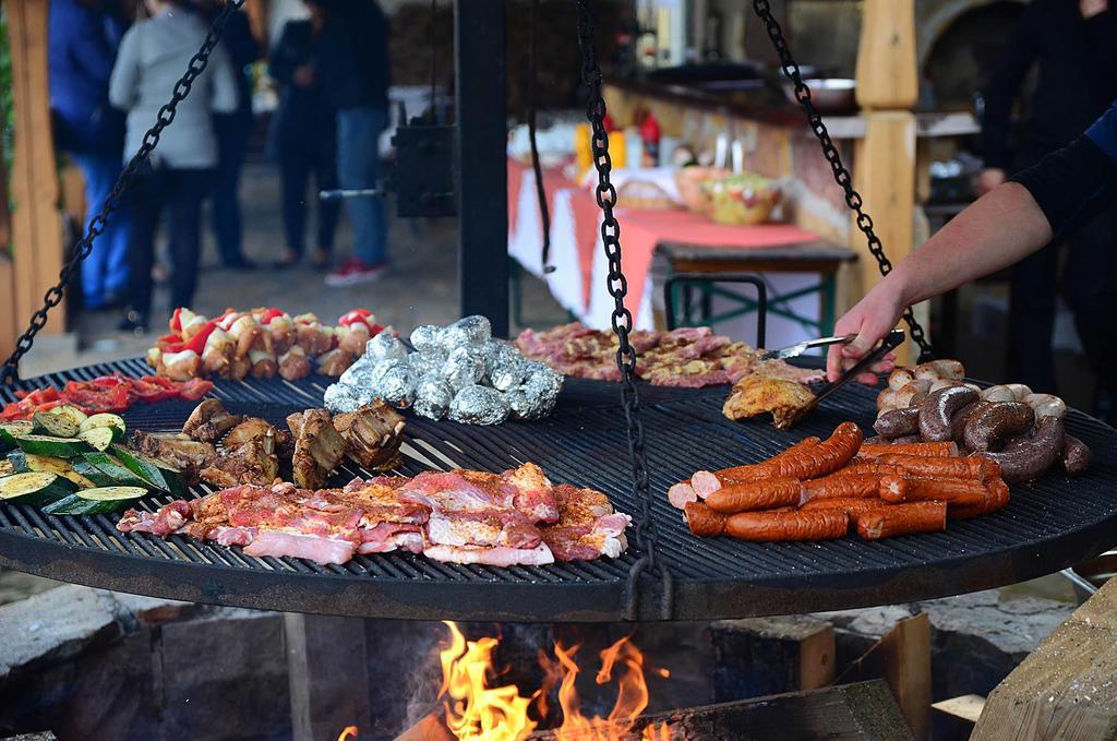
<svg viewBox="0 0 1117 741">
<path fill-rule="evenodd" d="M 322 87 L 322 38 L 314 37 L 308 20 L 284 23 L 279 40 L 268 56 L 268 74 L 279 84 L 279 105 L 271 116 L 268 150 L 275 160 L 285 152 L 308 143 L 331 145 L 336 136 L 336 115 Z M 309 87 L 294 84 L 295 69 L 303 65 L 315 68 L 317 80 Z"/>
</svg>

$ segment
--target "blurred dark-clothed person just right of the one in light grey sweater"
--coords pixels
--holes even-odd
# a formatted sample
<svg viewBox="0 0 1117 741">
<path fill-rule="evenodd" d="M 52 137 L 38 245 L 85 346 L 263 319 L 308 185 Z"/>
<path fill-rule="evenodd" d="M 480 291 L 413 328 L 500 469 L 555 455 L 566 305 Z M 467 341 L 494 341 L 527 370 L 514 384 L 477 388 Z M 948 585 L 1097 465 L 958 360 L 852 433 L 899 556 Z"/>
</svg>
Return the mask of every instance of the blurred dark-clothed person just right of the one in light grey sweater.
<svg viewBox="0 0 1117 741">
<path fill-rule="evenodd" d="M 202 17 L 212 22 L 227 0 L 195 0 Z M 213 114 L 217 135 L 217 171 L 210 200 L 210 226 L 217 239 L 221 264 L 235 269 L 251 269 L 245 257 L 240 220 L 240 170 L 245 164 L 248 140 L 252 133 L 252 85 L 248 67 L 260 57 L 260 45 L 252 36 L 248 15 L 237 10 L 226 23 L 221 48 L 237 78 L 237 110 Z"/>
</svg>

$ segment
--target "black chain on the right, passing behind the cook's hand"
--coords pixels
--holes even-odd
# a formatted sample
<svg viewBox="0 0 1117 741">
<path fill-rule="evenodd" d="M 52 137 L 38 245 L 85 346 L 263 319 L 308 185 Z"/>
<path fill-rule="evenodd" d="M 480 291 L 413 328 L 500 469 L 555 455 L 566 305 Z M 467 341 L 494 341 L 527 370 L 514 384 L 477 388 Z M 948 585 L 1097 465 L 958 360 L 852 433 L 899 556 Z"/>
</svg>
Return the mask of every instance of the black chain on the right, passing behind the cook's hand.
<svg viewBox="0 0 1117 741">
<path fill-rule="evenodd" d="M 803 82 L 799 65 L 795 63 L 794 57 L 791 56 L 791 49 L 787 48 L 787 40 L 783 37 L 783 29 L 772 15 L 772 7 L 768 4 L 768 0 L 753 0 L 753 9 L 760 19 L 764 21 L 768 38 L 772 39 L 772 45 L 780 56 L 780 65 L 784 76 L 795 85 L 795 99 L 799 101 L 806 112 L 806 122 L 822 146 L 822 155 L 830 163 L 830 169 L 833 170 L 834 181 L 841 186 L 841 189 L 846 193 L 846 205 L 857 215 L 857 228 L 865 234 L 869 251 L 877 258 L 880 274 L 888 275 L 892 270 L 892 263 L 885 255 L 885 248 L 880 244 L 880 238 L 877 237 L 876 231 L 872 229 L 872 219 L 865 212 L 865 202 L 861 199 L 861 194 L 853 190 L 853 179 L 850 177 L 846 165 L 842 164 L 841 154 L 838 152 L 838 148 L 834 146 L 833 140 L 830 139 L 830 132 L 827 131 L 827 125 L 822 123 L 822 116 L 819 114 L 818 108 L 814 107 L 814 103 L 811 99 L 811 88 Z M 919 345 L 919 362 L 933 360 L 935 352 L 910 306 L 904 310 L 904 321 L 908 325 L 911 340 Z"/>
</svg>

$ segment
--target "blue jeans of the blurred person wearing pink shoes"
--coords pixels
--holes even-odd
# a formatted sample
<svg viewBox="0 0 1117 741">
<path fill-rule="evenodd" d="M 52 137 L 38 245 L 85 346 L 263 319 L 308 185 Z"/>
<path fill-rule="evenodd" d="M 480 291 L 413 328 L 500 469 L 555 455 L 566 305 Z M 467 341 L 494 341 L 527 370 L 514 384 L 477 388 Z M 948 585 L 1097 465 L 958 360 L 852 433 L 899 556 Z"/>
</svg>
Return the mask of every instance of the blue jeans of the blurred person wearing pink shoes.
<svg viewBox="0 0 1117 741">
<path fill-rule="evenodd" d="M 380 134 L 388 113 L 371 106 L 337 112 L 337 180 L 344 189 L 375 188 L 380 169 Z M 353 224 L 354 251 L 366 265 L 388 259 L 388 227 L 380 198 L 345 201 Z"/>
</svg>

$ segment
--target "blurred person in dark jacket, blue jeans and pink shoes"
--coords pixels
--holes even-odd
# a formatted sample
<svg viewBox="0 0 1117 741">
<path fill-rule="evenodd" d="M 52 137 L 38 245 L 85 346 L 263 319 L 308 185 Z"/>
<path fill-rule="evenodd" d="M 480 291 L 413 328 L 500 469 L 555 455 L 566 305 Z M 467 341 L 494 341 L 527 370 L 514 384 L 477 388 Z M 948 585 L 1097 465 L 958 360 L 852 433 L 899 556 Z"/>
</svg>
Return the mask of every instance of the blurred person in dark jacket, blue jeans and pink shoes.
<svg viewBox="0 0 1117 741">
<path fill-rule="evenodd" d="M 337 111 L 337 175 L 344 189 L 375 188 L 380 134 L 388 125 L 388 19 L 375 0 L 327 0 L 318 79 Z M 326 285 L 380 278 L 388 269 L 388 225 L 380 198 L 345 201 L 354 251 Z"/>
</svg>

